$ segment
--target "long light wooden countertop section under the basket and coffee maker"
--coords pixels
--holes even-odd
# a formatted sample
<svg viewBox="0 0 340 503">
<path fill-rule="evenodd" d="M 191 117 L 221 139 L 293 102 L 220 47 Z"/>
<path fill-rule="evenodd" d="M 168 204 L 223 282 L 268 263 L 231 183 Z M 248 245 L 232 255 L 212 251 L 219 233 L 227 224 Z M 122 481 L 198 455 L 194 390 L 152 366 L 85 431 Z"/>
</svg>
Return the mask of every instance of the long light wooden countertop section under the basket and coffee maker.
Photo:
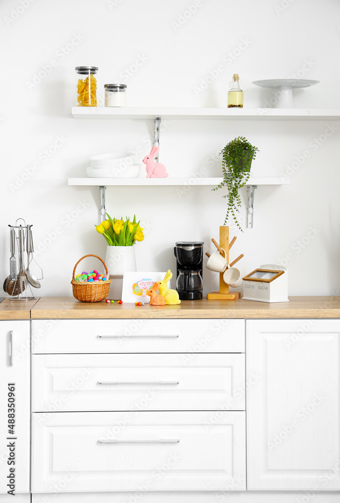
<svg viewBox="0 0 340 503">
<path fill-rule="evenodd" d="M 272 304 L 241 299 L 184 300 L 176 306 L 145 304 L 138 307 L 134 304 L 118 304 L 116 301 L 114 304 L 105 301 L 84 303 L 73 297 L 41 297 L 31 308 L 31 318 L 340 318 L 340 297 L 289 299 L 290 302 Z"/>
</svg>

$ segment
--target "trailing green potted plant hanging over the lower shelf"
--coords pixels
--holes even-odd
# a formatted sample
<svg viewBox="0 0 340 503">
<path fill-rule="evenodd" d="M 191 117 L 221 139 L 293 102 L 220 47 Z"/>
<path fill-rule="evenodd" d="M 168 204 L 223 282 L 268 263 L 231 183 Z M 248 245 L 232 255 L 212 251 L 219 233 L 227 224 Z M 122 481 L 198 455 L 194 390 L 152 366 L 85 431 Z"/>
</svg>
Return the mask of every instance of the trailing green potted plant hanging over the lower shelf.
<svg viewBox="0 0 340 503">
<path fill-rule="evenodd" d="M 228 209 L 224 225 L 226 225 L 229 213 L 231 213 L 237 227 L 241 231 L 242 229 L 235 215 L 235 211 L 239 211 L 238 208 L 241 206 L 239 189 L 249 180 L 251 161 L 256 157 L 258 151 L 258 147 L 251 145 L 243 136 L 238 136 L 229 141 L 220 152 L 222 154 L 223 181 L 212 189 L 217 190 L 224 186 L 227 187 L 228 194 L 222 196 L 228 199 Z"/>
</svg>

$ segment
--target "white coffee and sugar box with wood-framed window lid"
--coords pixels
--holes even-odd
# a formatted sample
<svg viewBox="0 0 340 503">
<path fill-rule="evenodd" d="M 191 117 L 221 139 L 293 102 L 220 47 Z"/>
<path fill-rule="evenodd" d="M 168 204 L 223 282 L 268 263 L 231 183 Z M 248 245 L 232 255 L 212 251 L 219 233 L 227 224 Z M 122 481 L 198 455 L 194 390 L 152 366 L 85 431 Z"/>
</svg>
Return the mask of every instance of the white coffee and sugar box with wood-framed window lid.
<svg viewBox="0 0 340 503">
<path fill-rule="evenodd" d="M 287 269 L 265 264 L 243 278 L 243 300 L 259 302 L 289 302 Z"/>
</svg>

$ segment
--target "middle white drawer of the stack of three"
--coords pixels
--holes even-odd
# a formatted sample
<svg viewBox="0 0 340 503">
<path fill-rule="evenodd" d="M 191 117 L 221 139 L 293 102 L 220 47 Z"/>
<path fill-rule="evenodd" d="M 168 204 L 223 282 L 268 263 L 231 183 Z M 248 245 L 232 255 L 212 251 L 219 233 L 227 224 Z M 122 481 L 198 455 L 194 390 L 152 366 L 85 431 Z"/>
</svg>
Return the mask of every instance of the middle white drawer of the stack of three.
<svg viewBox="0 0 340 503">
<path fill-rule="evenodd" d="M 35 412 L 244 410 L 244 354 L 33 355 Z"/>
</svg>

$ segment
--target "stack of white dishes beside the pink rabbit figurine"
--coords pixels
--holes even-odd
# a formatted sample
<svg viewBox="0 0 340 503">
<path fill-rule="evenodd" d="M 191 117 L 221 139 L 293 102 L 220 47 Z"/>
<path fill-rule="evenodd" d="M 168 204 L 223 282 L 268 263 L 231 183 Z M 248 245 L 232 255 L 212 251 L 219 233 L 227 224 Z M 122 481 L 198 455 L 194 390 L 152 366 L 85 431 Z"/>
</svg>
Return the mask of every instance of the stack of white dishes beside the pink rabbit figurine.
<svg viewBox="0 0 340 503">
<path fill-rule="evenodd" d="M 91 157 L 86 174 L 90 178 L 136 178 L 140 164 L 133 163 L 132 152 L 113 152 Z"/>
</svg>

